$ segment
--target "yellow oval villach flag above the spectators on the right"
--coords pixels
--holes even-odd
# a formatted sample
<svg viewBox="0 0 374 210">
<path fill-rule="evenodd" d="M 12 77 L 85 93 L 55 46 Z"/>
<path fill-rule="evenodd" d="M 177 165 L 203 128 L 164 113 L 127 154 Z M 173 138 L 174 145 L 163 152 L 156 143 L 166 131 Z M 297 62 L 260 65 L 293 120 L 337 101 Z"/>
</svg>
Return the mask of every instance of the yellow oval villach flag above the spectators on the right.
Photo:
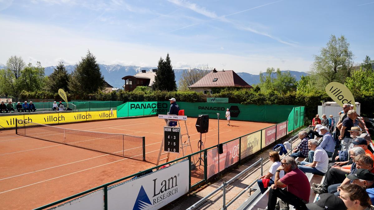
<svg viewBox="0 0 374 210">
<path fill-rule="evenodd" d="M 332 100 L 340 106 L 343 104 L 353 104 L 353 109 L 356 110 L 355 98 L 346 86 L 341 83 L 331 82 L 326 86 L 326 93 Z"/>
</svg>

